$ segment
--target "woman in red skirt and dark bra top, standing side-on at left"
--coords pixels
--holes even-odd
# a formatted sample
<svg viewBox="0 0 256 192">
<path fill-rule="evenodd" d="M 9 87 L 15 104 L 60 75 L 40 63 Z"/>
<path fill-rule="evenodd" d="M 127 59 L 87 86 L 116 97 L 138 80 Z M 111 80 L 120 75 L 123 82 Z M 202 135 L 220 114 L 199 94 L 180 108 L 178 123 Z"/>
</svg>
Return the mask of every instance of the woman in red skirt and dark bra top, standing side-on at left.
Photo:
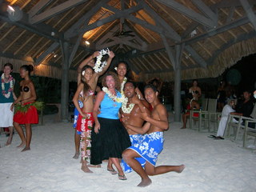
<svg viewBox="0 0 256 192">
<path fill-rule="evenodd" d="M 31 124 L 38 123 L 38 110 L 33 105 L 37 95 L 34 90 L 34 83 L 30 79 L 30 73 L 34 70 L 34 67 L 31 65 L 23 65 L 20 68 L 20 75 L 24 80 L 20 82 L 20 96 L 13 103 L 12 108 L 15 104 L 21 105 L 18 107 L 18 110 L 14 114 L 14 127 L 18 132 L 19 137 L 22 139 L 22 143 L 18 147 L 25 148 L 22 151 L 30 150 L 30 142 L 32 137 Z M 25 111 L 20 110 L 25 109 Z M 20 124 L 25 124 L 26 127 L 26 137 L 22 130 Z"/>
</svg>

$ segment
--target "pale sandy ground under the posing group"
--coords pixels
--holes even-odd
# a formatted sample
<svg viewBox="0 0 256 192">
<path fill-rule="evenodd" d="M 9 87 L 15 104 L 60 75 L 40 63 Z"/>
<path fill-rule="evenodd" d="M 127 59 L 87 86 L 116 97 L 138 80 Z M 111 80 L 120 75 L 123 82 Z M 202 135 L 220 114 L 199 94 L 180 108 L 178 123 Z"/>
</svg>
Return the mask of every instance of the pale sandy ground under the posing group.
<svg viewBox="0 0 256 192">
<path fill-rule="evenodd" d="M 207 138 L 212 133 L 181 130 L 180 122 L 170 122 L 165 132 L 164 150 L 157 165 L 185 164 L 182 174 L 167 173 L 150 177 L 152 184 L 137 187 L 136 173 L 126 181 L 102 168 L 93 174 L 80 170 L 74 155 L 74 130 L 70 122 L 53 121 L 33 126 L 31 150 L 20 152 L 18 134 L 11 146 L 0 136 L 0 191 L 255 191 L 256 153 L 242 148 L 242 141 Z"/>
</svg>

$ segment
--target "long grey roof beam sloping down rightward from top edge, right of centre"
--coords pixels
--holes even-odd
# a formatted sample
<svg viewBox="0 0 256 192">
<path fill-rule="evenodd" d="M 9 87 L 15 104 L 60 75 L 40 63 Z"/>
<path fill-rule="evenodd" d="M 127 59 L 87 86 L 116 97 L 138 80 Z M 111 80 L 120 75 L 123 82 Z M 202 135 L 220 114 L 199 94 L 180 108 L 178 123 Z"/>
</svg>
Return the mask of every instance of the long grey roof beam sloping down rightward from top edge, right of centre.
<svg viewBox="0 0 256 192">
<path fill-rule="evenodd" d="M 161 2 L 162 4 L 169 6 L 170 8 L 178 11 L 181 14 L 185 14 L 187 17 L 193 19 L 196 22 L 201 23 L 203 26 L 207 26 L 210 28 L 214 28 L 217 26 L 216 21 L 212 20 L 211 18 L 206 18 L 202 14 L 198 14 L 194 10 L 188 9 L 186 6 L 174 1 L 174 0 L 156 0 Z"/>
</svg>

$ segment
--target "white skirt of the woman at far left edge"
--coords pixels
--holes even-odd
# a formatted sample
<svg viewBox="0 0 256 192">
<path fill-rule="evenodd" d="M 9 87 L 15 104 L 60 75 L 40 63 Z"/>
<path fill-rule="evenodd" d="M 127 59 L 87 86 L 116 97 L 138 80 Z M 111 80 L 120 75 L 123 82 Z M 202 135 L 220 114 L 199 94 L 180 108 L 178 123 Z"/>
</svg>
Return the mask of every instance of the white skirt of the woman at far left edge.
<svg viewBox="0 0 256 192">
<path fill-rule="evenodd" d="M 0 127 L 14 126 L 14 111 L 10 110 L 12 102 L 0 103 Z"/>
</svg>

